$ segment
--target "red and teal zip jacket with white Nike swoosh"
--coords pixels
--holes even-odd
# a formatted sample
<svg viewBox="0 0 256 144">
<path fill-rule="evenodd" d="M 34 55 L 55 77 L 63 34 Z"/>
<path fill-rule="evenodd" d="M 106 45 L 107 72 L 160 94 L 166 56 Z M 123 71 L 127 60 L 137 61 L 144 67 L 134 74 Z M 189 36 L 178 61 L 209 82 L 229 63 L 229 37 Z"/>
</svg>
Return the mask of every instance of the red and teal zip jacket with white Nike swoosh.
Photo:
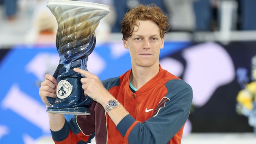
<svg viewBox="0 0 256 144">
<path fill-rule="evenodd" d="M 115 126 L 97 102 L 91 115 L 76 115 L 59 131 L 51 131 L 56 144 L 180 144 L 192 104 L 192 89 L 163 70 L 135 93 L 130 90 L 131 70 L 103 80 L 104 87 L 130 113 Z"/>
</svg>

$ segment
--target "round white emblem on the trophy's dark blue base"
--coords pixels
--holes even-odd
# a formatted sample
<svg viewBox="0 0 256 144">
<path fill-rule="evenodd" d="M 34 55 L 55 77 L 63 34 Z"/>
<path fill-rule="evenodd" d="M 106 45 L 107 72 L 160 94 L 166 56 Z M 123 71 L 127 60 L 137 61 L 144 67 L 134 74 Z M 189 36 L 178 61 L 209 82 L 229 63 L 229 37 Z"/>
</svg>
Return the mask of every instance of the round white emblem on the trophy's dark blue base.
<svg viewBox="0 0 256 144">
<path fill-rule="evenodd" d="M 64 99 L 72 93 L 72 85 L 67 80 L 61 80 L 57 86 L 57 97 Z"/>
</svg>

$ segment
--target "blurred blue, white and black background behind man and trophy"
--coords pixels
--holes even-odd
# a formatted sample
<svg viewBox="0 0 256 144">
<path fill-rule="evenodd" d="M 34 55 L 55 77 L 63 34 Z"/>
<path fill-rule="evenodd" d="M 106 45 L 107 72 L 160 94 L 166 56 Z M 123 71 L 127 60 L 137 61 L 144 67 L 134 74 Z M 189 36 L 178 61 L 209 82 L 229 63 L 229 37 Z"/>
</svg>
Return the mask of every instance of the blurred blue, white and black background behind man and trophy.
<svg viewBox="0 0 256 144">
<path fill-rule="evenodd" d="M 170 17 L 160 64 L 193 88 L 182 144 L 256 141 L 256 0 L 85 0 L 110 6 L 87 69 L 101 80 L 130 69 L 120 21 L 137 4 Z M 0 143 L 52 144 L 41 81 L 59 64 L 48 0 L 0 0 Z M 66 118 L 70 119 L 70 115 Z M 92 143 L 95 143 L 94 141 Z"/>
</svg>

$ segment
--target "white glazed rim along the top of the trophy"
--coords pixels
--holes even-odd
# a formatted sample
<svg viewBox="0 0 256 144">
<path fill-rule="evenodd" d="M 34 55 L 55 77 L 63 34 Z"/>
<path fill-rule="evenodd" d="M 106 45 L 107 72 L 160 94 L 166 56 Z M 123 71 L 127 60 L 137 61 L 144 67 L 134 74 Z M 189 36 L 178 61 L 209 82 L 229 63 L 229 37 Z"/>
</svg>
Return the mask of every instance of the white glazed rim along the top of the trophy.
<svg viewBox="0 0 256 144">
<path fill-rule="evenodd" d="M 100 4 L 96 2 L 84 2 L 84 1 L 76 1 L 76 0 L 48 0 L 48 5 L 62 5 L 62 6 L 85 6 L 85 7 L 93 7 L 104 9 L 109 11 L 109 6 L 105 4 Z"/>
</svg>

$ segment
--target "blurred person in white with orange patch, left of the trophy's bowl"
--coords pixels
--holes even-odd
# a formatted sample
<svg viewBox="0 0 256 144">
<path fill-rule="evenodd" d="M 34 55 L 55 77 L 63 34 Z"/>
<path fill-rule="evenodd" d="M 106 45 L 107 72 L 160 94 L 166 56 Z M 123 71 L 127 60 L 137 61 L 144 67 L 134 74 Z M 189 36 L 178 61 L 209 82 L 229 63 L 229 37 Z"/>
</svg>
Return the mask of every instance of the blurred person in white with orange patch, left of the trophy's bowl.
<svg viewBox="0 0 256 144">
<path fill-rule="evenodd" d="M 26 32 L 23 42 L 36 47 L 53 46 L 58 27 L 56 18 L 46 6 L 48 0 L 36 0 L 34 2 L 31 16 L 32 25 L 30 30 Z"/>
</svg>

